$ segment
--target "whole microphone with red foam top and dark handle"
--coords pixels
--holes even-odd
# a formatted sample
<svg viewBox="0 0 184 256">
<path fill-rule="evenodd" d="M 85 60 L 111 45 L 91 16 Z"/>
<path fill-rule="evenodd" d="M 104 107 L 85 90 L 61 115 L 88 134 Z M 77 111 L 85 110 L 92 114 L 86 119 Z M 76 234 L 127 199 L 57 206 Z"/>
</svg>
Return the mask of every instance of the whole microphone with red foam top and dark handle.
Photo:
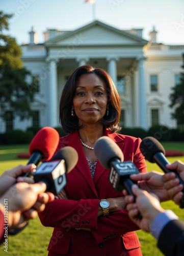
<svg viewBox="0 0 184 256">
<path fill-rule="evenodd" d="M 49 161 L 56 152 L 59 144 L 59 133 L 52 127 L 43 127 L 32 139 L 29 152 L 30 159 L 27 164 L 34 163 L 38 165 L 40 161 Z M 31 173 L 25 173 L 21 176 L 29 177 Z"/>
</svg>

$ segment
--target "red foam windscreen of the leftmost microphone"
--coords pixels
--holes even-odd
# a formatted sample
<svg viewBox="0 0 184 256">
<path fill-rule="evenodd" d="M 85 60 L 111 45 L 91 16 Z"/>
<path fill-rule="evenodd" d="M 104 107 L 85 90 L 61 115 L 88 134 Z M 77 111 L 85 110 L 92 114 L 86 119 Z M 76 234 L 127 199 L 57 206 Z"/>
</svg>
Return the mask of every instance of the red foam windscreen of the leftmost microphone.
<svg viewBox="0 0 184 256">
<path fill-rule="evenodd" d="M 32 155 L 34 151 L 40 151 L 43 154 L 42 162 L 49 161 L 59 144 L 59 133 L 52 127 L 43 127 L 32 139 L 29 152 Z"/>
</svg>

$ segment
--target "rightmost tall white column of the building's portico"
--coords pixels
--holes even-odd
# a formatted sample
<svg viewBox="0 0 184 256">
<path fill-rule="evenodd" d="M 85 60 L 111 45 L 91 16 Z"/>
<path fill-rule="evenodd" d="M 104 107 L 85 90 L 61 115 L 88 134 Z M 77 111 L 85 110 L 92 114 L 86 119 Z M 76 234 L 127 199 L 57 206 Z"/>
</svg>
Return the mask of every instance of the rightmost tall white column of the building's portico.
<svg viewBox="0 0 184 256">
<path fill-rule="evenodd" d="M 139 126 L 147 130 L 146 77 L 144 57 L 138 58 L 139 70 Z"/>
</svg>

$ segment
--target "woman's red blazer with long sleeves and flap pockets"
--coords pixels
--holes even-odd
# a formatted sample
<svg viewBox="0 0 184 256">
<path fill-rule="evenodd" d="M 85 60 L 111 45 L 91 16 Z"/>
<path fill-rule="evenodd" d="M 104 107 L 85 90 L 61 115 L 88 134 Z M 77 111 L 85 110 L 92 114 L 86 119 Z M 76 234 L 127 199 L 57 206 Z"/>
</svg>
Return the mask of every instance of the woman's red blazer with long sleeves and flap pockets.
<svg viewBox="0 0 184 256">
<path fill-rule="evenodd" d="M 124 161 L 133 161 L 140 172 L 146 173 L 146 162 L 140 152 L 140 138 L 112 133 L 121 148 Z M 140 242 L 134 230 L 139 229 L 127 215 L 127 210 L 110 213 L 109 217 L 97 217 L 100 199 L 121 197 L 109 181 L 110 170 L 99 161 L 94 180 L 84 154 L 78 131 L 60 138 L 59 148 L 72 146 L 78 153 L 78 162 L 67 175 L 66 193 L 70 200 L 58 199 L 48 203 L 39 218 L 44 226 L 54 227 L 48 245 L 48 255 L 142 255 Z M 71 159 L 72 161 L 72 159 Z M 75 228 L 90 228 L 91 231 Z M 58 253 L 58 254 L 55 254 Z"/>
</svg>

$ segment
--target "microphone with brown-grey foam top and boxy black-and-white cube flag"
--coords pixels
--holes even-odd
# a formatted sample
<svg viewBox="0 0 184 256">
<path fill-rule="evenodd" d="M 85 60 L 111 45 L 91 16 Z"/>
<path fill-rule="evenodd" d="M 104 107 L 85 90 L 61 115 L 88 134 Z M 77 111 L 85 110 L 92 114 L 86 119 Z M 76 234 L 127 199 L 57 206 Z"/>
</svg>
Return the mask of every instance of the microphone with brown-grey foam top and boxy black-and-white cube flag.
<svg viewBox="0 0 184 256">
<path fill-rule="evenodd" d="M 78 161 L 78 154 L 71 146 L 65 146 L 48 162 L 40 164 L 33 173 L 36 182 L 44 182 L 46 191 L 58 195 L 67 184 L 66 173 L 69 173 Z"/>
</svg>

